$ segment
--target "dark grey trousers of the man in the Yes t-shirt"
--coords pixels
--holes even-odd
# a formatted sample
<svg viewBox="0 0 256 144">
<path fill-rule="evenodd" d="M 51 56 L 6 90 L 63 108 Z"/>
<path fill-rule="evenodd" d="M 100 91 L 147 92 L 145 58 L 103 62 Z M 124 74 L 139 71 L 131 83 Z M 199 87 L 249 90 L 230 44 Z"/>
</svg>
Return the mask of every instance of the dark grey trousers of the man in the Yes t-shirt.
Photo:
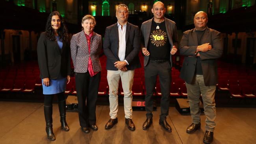
<svg viewBox="0 0 256 144">
<path fill-rule="evenodd" d="M 145 97 L 145 109 L 147 118 L 152 118 L 153 114 L 153 93 L 156 86 L 156 78 L 159 76 L 161 87 L 161 114 L 160 120 L 165 120 L 169 113 L 170 85 L 171 85 L 171 65 L 169 61 L 163 63 L 152 63 L 151 61 L 145 70 L 145 87 L 147 95 Z"/>
</svg>

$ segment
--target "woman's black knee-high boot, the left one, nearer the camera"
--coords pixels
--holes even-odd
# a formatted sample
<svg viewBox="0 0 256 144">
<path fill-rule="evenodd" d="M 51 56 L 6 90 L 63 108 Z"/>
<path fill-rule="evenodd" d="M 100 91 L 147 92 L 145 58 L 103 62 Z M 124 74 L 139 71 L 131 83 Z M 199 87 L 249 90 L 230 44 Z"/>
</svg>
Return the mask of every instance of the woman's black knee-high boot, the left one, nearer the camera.
<svg viewBox="0 0 256 144">
<path fill-rule="evenodd" d="M 45 122 L 46 128 L 45 131 L 47 133 L 47 138 L 49 140 L 56 140 L 55 135 L 52 129 L 52 106 L 44 105 L 44 112 L 45 112 Z"/>
</svg>

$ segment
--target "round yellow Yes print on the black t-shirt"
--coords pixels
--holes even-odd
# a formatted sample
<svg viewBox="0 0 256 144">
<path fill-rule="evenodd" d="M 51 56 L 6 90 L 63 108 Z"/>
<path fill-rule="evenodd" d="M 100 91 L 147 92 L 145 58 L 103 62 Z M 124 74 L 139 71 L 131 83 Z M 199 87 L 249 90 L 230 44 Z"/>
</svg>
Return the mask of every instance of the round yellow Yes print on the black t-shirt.
<svg viewBox="0 0 256 144">
<path fill-rule="evenodd" d="M 162 30 L 154 30 L 150 34 L 150 41 L 155 46 L 164 46 L 167 41 L 167 33 Z"/>
</svg>

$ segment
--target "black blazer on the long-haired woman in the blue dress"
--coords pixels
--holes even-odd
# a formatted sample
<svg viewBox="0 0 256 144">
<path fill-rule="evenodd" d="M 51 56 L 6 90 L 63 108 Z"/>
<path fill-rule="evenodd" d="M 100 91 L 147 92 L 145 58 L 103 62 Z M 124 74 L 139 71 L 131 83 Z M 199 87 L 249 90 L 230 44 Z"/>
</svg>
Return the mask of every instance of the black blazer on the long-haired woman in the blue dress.
<svg viewBox="0 0 256 144">
<path fill-rule="evenodd" d="M 63 42 L 60 49 L 57 41 L 50 41 L 43 32 L 37 42 L 37 58 L 41 79 L 57 79 L 59 74 L 65 78 L 71 74 L 69 42 Z"/>
</svg>

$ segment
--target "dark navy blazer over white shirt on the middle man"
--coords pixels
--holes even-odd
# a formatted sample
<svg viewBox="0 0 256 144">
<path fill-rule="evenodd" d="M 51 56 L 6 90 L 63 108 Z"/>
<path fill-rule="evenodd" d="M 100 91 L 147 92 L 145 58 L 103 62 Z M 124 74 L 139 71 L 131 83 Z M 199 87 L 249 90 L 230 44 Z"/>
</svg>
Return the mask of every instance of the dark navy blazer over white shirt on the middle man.
<svg viewBox="0 0 256 144">
<path fill-rule="evenodd" d="M 134 70 L 141 67 L 138 56 L 141 50 L 140 39 L 139 27 L 127 22 L 125 33 L 126 50 L 124 59 L 129 63 L 129 65 L 126 65 L 128 70 Z M 118 70 L 114 65 L 116 61 L 120 61 L 118 57 L 119 34 L 117 23 L 106 28 L 103 48 L 104 54 L 107 56 L 107 70 Z"/>
</svg>

